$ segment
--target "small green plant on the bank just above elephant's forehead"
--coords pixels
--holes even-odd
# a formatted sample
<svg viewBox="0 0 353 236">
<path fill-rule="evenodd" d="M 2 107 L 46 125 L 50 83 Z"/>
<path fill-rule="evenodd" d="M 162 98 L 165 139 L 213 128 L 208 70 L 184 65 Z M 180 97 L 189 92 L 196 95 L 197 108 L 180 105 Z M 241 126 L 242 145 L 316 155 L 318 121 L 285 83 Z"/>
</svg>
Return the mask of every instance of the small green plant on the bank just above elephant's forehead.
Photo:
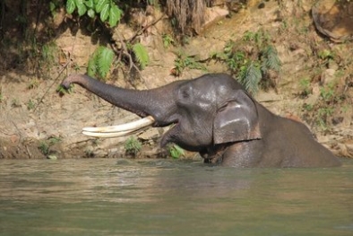
<svg viewBox="0 0 353 236">
<path fill-rule="evenodd" d="M 184 52 L 179 51 L 174 60 L 173 74 L 179 76 L 185 68 L 207 71 L 207 68 L 202 63 L 195 60 L 194 57 L 186 56 Z"/>
</svg>

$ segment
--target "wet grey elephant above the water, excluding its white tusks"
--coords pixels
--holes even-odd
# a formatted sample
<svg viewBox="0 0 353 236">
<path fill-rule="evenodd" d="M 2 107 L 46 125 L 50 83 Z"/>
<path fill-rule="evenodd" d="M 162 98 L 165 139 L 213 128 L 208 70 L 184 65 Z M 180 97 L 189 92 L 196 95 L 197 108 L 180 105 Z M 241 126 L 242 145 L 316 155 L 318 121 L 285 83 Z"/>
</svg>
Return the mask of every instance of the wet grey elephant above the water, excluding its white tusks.
<svg viewBox="0 0 353 236">
<path fill-rule="evenodd" d="M 272 114 L 227 74 L 205 74 L 157 89 L 136 91 L 88 75 L 67 77 L 116 107 L 155 118 L 154 127 L 175 124 L 161 146 L 175 143 L 199 152 L 205 162 L 232 167 L 331 167 L 340 161 L 309 129 Z"/>
</svg>

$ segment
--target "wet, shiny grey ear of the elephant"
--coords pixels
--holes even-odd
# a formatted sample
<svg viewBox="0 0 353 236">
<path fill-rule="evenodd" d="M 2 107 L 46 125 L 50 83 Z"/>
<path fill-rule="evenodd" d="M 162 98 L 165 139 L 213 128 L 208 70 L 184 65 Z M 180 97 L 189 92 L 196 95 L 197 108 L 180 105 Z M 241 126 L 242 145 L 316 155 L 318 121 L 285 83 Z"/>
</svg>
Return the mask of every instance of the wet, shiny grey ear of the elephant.
<svg viewBox="0 0 353 236">
<path fill-rule="evenodd" d="M 259 117 L 252 98 L 237 90 L 218 110 L 213 121 L 213 142 L 223 144 L 260 139 Z"/>
</svg>

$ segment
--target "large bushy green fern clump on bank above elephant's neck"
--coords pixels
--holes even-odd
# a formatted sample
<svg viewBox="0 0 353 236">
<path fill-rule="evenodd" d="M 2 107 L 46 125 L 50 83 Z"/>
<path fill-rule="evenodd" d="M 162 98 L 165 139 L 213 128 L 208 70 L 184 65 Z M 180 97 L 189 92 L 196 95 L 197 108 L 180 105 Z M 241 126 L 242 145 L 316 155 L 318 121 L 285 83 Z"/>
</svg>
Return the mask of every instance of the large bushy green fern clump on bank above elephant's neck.
<svg viewBox="0 0 353 236">
<path fill-rule="evenodd" d="M 261 81 L 271 80 L 270 72 L 280 73 L 280 57 L 265 31 L 246 31 L 242 39 L 229 40 L 223 51 L 213 53 L 211 58 L 226 64 L 252 94 L 258 92 Z"/>
</svg>

